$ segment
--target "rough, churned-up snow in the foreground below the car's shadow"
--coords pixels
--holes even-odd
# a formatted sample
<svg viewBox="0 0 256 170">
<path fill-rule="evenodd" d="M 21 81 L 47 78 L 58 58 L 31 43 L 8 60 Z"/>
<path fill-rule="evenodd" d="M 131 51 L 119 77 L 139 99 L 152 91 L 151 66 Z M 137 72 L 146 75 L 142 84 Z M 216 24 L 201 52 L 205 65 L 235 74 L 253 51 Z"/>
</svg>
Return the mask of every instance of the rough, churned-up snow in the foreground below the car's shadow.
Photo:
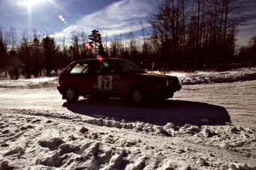
<svg viewBox="0 0 256 170">
<path fill-rule="evenodd" d="M 255 159 L 253 128 L 177 127 L 171 122 L 125 126 L 130 123 L 58 114 L 32 110 L 0 113 L 0 169 L 256 168 L 244 160 L 236 162 L 240 157 Z M 241 155 L 227 161 L 230 151 Z M 242 156 L 249 152 L 251 156 Z"/>
</svg>

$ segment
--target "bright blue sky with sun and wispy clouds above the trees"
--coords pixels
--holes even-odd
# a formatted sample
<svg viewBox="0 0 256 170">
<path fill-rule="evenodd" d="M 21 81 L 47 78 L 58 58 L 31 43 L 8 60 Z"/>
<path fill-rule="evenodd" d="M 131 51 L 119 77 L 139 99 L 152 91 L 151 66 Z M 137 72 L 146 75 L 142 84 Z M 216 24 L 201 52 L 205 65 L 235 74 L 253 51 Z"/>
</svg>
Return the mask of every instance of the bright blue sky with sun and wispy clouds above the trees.
<svg viewBox="0 0 256 170">
<path fill-rule="evenodd" d="M 139 31 L 150 14 L 156 10 L 157 0 L 0 0 L 0 26 L 10 26 L 21 34 L 33 29 L 56 38 L 70 37 L 73 31 L 98 29 L 108 37 L 129 31 Z M 246 45 L 256 36 L 256 0 L 245 0 L 245 21 L 238 27 L 237 42 Z M 60 16 L 61 15 L 61 16 Z"/>
</svg>

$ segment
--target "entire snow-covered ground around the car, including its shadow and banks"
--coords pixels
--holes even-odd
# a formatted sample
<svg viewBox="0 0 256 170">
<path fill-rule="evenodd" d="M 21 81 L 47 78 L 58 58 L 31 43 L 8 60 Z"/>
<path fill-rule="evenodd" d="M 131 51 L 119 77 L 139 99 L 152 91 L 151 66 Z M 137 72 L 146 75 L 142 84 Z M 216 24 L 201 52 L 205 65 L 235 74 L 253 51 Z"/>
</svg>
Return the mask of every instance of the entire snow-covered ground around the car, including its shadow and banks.
<svg viewBox="0 0 256 170">
<path fill-rule="evenodd" d="M 56 77 L 0 80 L 0 170 L 255 170 L 256 69 L 172 75 L 182 90 L 144 108 L 68 104 Z"/>
</svg>

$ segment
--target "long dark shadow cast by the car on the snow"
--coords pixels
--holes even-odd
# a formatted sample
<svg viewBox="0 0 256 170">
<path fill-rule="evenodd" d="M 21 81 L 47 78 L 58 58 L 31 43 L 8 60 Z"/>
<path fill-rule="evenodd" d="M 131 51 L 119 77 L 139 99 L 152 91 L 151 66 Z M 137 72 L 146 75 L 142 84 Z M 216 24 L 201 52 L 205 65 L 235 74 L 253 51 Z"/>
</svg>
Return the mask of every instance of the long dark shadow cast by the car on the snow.
<svg viewBox="0 0 256 170">
<path fill-rule="evenodd" d="M 230 115 L 224 107 L 201 102 L 166 100 L 162 103 L 137 108 L 122 99 L 82 99 L 76 103 L 65 102 L 69 111 L 96 118 L 111 118 L 124 122 L 148 122 L 165 125 L 224 125 L 230 122 Z"/>
</svg>

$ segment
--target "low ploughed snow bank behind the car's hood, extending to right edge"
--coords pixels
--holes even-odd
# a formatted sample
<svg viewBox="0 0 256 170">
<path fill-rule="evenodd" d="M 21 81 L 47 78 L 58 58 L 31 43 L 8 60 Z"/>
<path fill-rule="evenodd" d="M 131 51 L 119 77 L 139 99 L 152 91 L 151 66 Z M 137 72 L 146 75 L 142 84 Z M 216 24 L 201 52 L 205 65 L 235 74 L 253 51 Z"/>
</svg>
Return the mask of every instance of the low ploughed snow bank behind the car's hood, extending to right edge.
<svg viewBox="0 0 256 170">
<path fill-rule="evenodd" d="M 157 74 L 166 74 L 178 77 L 182 84 L 202 84 L 218 82 L 239 82 L 256 80 L 256 68 L 241 68 L 233 71 L 196 71 L 196 72 L 160 72 L 152 71 Z"/>
</svg>

